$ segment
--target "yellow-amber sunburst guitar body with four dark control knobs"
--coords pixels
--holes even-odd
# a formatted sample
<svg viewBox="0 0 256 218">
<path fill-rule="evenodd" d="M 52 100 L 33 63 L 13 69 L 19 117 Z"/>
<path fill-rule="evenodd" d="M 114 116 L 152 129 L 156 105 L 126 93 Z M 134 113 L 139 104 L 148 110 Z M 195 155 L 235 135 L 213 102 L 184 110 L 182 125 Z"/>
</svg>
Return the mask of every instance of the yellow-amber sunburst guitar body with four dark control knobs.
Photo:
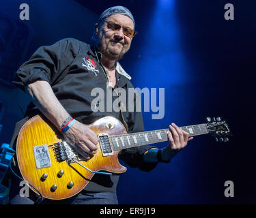
<svg viewBox="0 0 256 218">
<path fill-rule="evenodd" d="M 126 134 L 124 125 L 110 116 L 88 126 L 99 135 Z M 94 171 L 90 172 L 78 163 L 69 161 L 68 157 L 59 157 L 65 156 L 67 151 L 59 151 L 58 142 L 62 143 L 58 130 L 40 115 L 29 119 L 18 134 L 16 154 L 20 173 L 44 198 L 70 198 L 84 189 L 94 176 L 94 172 L 100 170 L 113 173 L 126 171 L 117 159 L 119 151 L 112 150 L 111 155 L 103 154 L 99 143 L 97 153 L 88 161 L 76 157 L 76 161 L 81 165 Z M 30 186 L 38 193 L 33 187 Z"/>
</svg>

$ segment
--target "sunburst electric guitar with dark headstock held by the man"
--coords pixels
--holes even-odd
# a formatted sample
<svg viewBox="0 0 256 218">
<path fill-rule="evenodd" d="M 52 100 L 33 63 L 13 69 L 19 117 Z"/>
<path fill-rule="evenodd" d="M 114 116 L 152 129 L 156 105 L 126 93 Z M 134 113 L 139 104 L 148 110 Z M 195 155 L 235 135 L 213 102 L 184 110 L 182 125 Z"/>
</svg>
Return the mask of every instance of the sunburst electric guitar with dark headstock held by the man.
<svg viewBox="0 0 256 218">
<path fill-rule="evenodd" d="M 126 172 L 117 158 L 119 151 L 134 146 L 167 141 L 169 129 L 127 134 L 117 119 L 106 116 L 87 125 L 99 138 L 97 153 L 88 161 L 61 140 L 59 131 L 44 116 L 33 116 L 20 129 L 16 155 L 18 167 L 29 187 L 44 198 L 61 200 L 76 195 L 96 173 Z M 208 118 L 208 123 L 181 127 L 189 136 L 213 134 L 226 142 L 231 131 L 225 121 Z"/>
</svg>

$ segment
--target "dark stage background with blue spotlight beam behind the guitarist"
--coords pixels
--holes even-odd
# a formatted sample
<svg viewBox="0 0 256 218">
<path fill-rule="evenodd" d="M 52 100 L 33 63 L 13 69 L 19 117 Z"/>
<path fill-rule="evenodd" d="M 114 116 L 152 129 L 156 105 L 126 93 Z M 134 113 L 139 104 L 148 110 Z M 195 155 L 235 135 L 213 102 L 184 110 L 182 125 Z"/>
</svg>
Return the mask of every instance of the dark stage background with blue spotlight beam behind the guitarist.
<svg viewBox="0 0 256 218">
<path fill-rule="evenodd" d="M 29 103 L 10 84 L 16 69 L 42 45 L 65 37 L 89 42 L 98 16 L 124 5 L 139 34 L 121 61 L 134 87 L 165 88 L 165 117 L 144 112 L 145 130 L 227 120 L 233 137 L 218 144 L 195 137 L 169 164 L 120 176 L 120 204 L 255 204 L 255 1 L 0 1 L 0 143 L 10 143 Z M 29 5 L 29 20 L 19 5 Z M 234 6 L 225 20 L 224 5 Z M 159 147 L 167 143 L 159 144 Z M 224 196 L 233 181 L 233 198 Z"/>
</svg>

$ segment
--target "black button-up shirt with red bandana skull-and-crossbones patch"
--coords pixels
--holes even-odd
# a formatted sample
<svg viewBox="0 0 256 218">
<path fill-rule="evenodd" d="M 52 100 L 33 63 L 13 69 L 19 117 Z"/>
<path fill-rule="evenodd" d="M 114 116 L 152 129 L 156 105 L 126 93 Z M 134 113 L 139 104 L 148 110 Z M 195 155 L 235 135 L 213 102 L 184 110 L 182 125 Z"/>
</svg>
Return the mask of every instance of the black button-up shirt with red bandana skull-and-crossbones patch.
<svg viewBox="0 0 256 218">
<path fill-rule="evenodd" d="M 116 67 L 116 78 L 114 89 L 121 87 L 128 91 L 129 88 L 133 88 L 130 76 L 126 74 L 119 63 Z M 144 131 L 142 113 L 136 112 L 135 109 L 134 112 L 128 110 L 107 112 L 106 104 L 104 104 L 104 111 L 92 110 L 94 105 L 91 106 L 91 102 L 95 96 L 91 96 L 91 90 L 96 87 L 102 89 L 105 93 L 103 100 L 107 103 L 106 89 L 108 89 L 108 79 L 100 64 L 100 53 L 93 45 L 68 38 L 60 40 L 52 46 L 38 48 L 31 58 L 18 69 L 14 84 L 25 91 L 28 84 L 37 80 L 45 80 L 51 84 L 53 92 L 63 108 L 81 123 L 89 124 L 104 116 L 113 116 L 122 121 L 124 125 L 127 124 L 128 133 Z M 116 97 L 112 95 L 112 102 Z M 128 103 L 128 99 L 126 102 Z M 26 114 L 31 116 L 31 114 L 36 114 L 37 110 L 31 103 Z M 150 171 L 156 166 L 156 163 L 145 163 L 142 155 L 152 147 L 138 146 L 125 149 L 119 153 L 118 157 L 130 167 Z M 117 181 L 117 175 L 95 174 L 85 189 L 88 191 L 116 191 Z"/>
</svg>

